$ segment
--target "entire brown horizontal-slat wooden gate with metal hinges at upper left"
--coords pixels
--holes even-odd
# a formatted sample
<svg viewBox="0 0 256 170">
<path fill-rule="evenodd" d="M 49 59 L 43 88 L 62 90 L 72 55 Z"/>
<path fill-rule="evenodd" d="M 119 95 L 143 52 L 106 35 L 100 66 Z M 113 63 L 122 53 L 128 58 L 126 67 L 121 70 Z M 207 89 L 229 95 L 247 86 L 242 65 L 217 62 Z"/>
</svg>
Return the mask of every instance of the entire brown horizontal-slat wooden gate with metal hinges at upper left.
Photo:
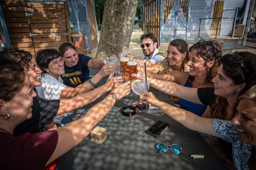
<svg viewBox="0 0 256 170">
<path fill-rule="evenodd" d="M 0 1 L 13 48 L 29 51 L 59 49 L 71 42 L 67 3 Z"/>
</svg>

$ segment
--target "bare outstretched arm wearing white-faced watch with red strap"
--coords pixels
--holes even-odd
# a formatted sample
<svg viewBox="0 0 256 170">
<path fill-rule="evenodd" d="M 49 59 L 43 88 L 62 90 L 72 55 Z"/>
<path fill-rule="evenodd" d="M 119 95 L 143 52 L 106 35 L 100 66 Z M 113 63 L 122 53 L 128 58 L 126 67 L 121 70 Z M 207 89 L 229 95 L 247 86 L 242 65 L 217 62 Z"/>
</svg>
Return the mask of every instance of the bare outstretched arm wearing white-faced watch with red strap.
<svg viewBox="0 0 256 170">
<path fill-rule="evenodd" d="M 130 90 L 130 82 L 128 81 L 119 85 L 111 92 L 117 94 L 120 99 L 123 96 L 128 95 Z M 57 146 L 46 165 L 68 152 L 74 146 L 78 145 L 78 143 L 80 143 L 91 132 L 94 126 L 107 115 L 114 103 L 115 100 L 113 96 L 108 95 L 100 103 L 92 107 L 84 117 L 57 129 Z"/>
</svg>

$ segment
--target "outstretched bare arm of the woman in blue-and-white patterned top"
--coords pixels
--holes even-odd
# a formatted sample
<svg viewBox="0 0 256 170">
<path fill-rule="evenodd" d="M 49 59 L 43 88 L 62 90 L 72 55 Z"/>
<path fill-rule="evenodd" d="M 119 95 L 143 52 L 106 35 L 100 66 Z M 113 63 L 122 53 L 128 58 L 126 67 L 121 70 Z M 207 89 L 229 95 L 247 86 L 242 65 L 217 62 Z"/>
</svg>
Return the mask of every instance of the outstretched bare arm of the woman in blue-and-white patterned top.
<svg viewBox="0 0 256 170">
<path fill-rule="evenodd" d="M 189 111 L 171 106 L 165 102 L 159 101 L 152 92 L 147 92 L 144 96 L 140 96 L 140 101 L 151 103 L 153 106 L 158 107 L 162 112 L 169 115 L 178 123 L 186 126 L 188 129 L 210 134 L 219 137 L 213 130 L 211 118 L 203 118 Z"/>
</svg>

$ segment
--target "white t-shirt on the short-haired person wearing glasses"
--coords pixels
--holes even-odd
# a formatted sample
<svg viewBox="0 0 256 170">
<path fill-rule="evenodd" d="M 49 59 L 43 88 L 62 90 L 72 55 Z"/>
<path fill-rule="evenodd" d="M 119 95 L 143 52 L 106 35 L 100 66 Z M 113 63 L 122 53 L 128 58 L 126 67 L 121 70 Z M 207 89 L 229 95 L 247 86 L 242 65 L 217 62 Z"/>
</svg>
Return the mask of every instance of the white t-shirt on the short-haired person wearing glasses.
<svg viewBox="0 0 256 170">
<path fill-rule="evenodd" d="M 60 93 L 62 92 L 64 87 L 66 87 L 66 85 L 63 84 L 61 77 L 59 77 L 57 80 L 48 73 L 45 73 L 44 76 L 41 75 L 41 81 L 42 85 L 36 87 L 39 97 L 48 100 L 60 99 Z M 65 114 L 56 116 L 53 120 L 62 121 L 64 115 Z"/>
</svg>

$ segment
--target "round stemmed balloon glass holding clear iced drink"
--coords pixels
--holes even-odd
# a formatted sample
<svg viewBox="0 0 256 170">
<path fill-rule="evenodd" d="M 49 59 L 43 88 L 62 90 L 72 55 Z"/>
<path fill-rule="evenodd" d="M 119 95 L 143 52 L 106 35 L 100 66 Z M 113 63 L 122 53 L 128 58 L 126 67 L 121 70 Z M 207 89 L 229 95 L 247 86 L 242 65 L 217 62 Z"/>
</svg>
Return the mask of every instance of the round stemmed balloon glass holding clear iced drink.
<svg viewBox="0 0 256 170">
<path fill-rule="evenodd" d="M 137 77 L 132 80 L 132 90 L 135 94 L 143 96 L 149 90 L 149 81 L 145 77 Z M 140 111 L 145 111 L 149 108 L 148 104 L 140 104 L 136 108 Z"/>
</svg>

